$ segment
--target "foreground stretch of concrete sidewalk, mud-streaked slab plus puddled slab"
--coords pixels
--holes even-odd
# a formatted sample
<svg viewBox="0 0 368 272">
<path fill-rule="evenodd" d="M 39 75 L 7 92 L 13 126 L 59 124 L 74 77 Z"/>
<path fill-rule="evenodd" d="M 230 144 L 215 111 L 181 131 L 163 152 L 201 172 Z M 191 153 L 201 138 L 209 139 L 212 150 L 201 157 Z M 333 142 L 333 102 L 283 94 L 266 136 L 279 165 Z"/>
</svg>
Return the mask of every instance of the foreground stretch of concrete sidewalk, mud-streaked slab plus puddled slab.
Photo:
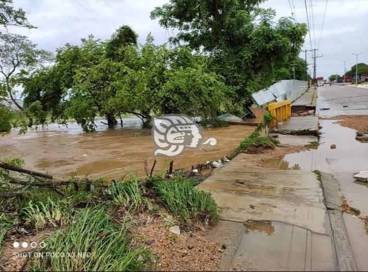
<svg viewBox="0 0 368 272">
<path fill-rule="evenodd" d="M 354 270 L 345 259 L 340 258 L 342 268 L 338 263 L 336 252 L 350 257 L 351 249 L 348 250 L 348 244 L 345 254 L 345 249 L 335 248 L 330 215 L 317 175 L 301 170 L 249 167 L 249 156 L 252 155 L 239 154 L 199 186 L 211 192 L 222 208 L 219 223 L 208 233 L 209 238 L 227 245 L 222 268 Z M 337 191 L 333 193 L 339 197 Z M 341 216 L 340 211 L 335 214 L 338 213 Z M 337 221 L 341 223 L 338 217 Z M 334 231 L 342 236 L 346 232 L 341 227 Z M 342 245 L 345 248 L 346 241 Z M 354 263 L 354 258 L 351 260 Z"/>
</svg>

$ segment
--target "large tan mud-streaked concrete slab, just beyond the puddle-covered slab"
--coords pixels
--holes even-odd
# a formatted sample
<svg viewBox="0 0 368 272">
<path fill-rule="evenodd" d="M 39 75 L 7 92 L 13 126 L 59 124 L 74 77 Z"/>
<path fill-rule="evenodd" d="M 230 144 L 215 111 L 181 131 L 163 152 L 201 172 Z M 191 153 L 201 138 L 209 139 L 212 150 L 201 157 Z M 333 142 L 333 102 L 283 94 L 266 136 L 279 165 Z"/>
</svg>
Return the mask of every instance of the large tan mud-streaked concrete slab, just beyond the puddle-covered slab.
<svg viewBox="0 0 368 272">
<path fill-rule="evenodd" d="M 323 193 L 314 173 L 250 168 L 246 157 L 239 154 L 199 185 L 222 207 L 220 219 L 282 221 L 327 233 Z"/>
</svg>

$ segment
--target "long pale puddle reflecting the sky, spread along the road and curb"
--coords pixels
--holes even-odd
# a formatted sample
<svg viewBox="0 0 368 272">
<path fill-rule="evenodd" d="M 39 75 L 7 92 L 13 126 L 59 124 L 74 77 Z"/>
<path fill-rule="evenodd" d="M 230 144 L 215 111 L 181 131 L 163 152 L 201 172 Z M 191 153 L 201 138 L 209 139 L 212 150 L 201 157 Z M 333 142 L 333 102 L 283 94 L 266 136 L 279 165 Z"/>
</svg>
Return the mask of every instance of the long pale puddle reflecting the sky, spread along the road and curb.
<svg viewBox="0 0 368 272">
<path fill-rule="evenodd" d="M 292 165 L 298 165 L 301 170 L 318 169 L 332 173 L 350 201 L 349 205 L 359 209 L 361 215 L 368 215 L 368 183 L 357 182 L 352 177 L 360 170 L 368 169 L 368 143 L 356 141 L 354 129 L 335 122 L 320 120 L 323 134 L 317 149 L 287 154 L 280 159 L 266 161 L 264 166 L 290 169 Z M 336 149 L 331 149 L 331 144 L 336 144 Z M 368 250 L 368 235 L 364 233 L 363 223 L 351 215 L 344 215 L 344 218 L 357 266 L 360 270 L 366 269 L 368 259 L 363 255 L 366 256 Z"/>
</svg>

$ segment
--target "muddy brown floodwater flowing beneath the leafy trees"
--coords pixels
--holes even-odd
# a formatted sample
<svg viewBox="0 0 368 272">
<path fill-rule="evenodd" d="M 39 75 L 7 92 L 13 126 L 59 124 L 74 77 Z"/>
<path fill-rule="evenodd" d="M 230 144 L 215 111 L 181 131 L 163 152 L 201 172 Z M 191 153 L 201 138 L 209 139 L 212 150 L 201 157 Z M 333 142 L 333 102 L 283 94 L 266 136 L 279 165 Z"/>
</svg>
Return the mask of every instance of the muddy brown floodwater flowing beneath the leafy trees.
<svg viewBox="0 0 368 272">
<path fill-rule="evenodd" d="M 23 158 L 25 167 L 56 176 L 73 172 L 92 177 L 120 177 L 127 173 L 142 176 L 144 161 L 147 160 L 150 170 L 155 160 L 151 129 L 141 129 L 136 118 L 124 118 L 123 122 L 123 128 L 118 125 L 109 129 L 97 120 L 97 133 L 83 133 L 75 123 L 68 127 L 51 124 L 25 135 L 13 131 L 0 137 L 0 158 Z M 226 156 L 253 130 L 254 127 L 248 126 L 202 129 L 204 139 L 215 137 L 217 145 L 185 150 L 174 159 L 174 168 L 189 168 Z M 155 170 L 162 171 L 167 162 L 158 157 Z"/>
</svg>

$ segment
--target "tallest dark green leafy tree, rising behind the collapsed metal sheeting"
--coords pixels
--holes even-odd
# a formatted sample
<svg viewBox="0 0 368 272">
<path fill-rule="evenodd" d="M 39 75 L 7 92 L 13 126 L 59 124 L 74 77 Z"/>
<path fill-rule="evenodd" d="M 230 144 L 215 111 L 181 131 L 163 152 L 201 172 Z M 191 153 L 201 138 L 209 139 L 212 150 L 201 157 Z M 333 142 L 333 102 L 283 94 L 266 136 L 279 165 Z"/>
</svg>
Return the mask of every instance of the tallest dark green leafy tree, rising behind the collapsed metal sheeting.
<svg viewBox="0 0 368 272">
<path fill-rule="evenodd" d="M 152 19 L 175 29 L 174 44 L 205 51 L 213 71 L 236 89 L 233 111 L 242 111 L 250 94 L 269 85 L 288 58 L 296 59 L 307 33 L 305 24 L 259 8 L 260 0 L 171 0 Z"/>
</svg>

